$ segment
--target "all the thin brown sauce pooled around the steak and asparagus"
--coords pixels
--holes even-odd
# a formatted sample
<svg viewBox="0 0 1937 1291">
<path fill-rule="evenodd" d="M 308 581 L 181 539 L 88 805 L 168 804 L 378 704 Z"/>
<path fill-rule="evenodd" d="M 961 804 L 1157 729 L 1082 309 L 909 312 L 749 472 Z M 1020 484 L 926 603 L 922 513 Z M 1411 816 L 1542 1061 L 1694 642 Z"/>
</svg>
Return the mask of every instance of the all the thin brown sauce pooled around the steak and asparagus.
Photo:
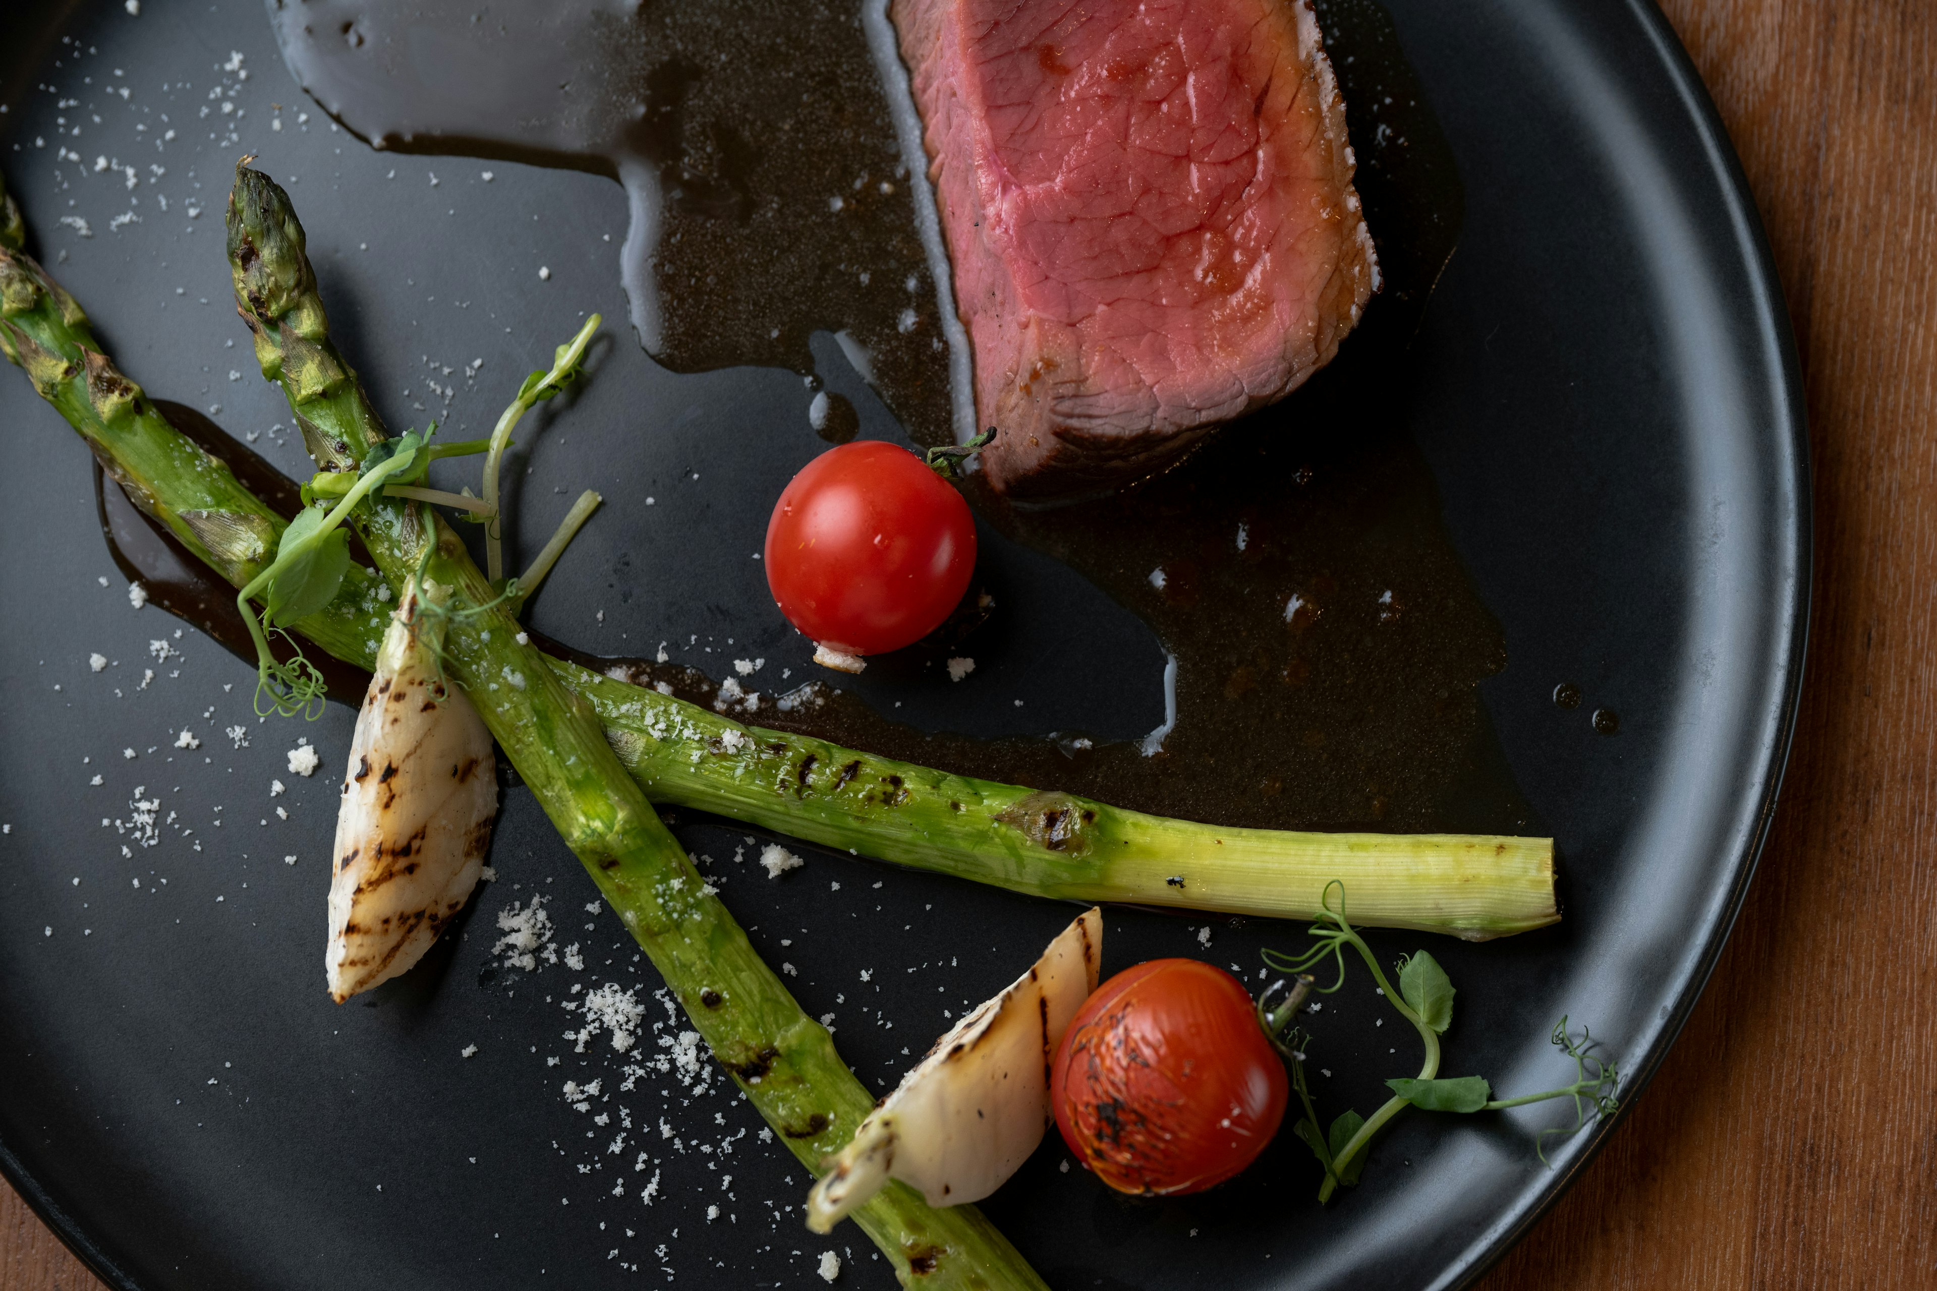
<svg viewBox="0 0 1937 1291">
<path fill-rule="evenodd" d="M 843 691 L 833 674 L 786 710 L 769 699 L 748 720 L 1230 825 L 1534 828 L 1478 697 L 1478 683 L 1505 666 L 1505 641 L 1451 546 L 1406 430 L 1406 350 L 1459 238 L 1459 176 L 1387 14 L 1371 0 L 1317 10 L 1385 271 L 1385 290 L 1338 360 L 1275 408 L 1224 428 L 1185 465 L 1112 497 L 1015 511 L 968 482 L 984 521 L 1069 563 L 1151 625 L 1176 660 L 1174 726 L 1147 743 L 924 734 Z M 494 6 L 478 21 L 471 14 L 447 0 L 382 10 L 320 0 L 289 6 L 277 21 L 304 85 L 384 147 L 620 176 L 633 192 L 637 246 L 628 255 L 651 250 L 639 261 L 651 273 L 628 271 L 628 286 L 635 314 L 649 296 L 651 325 L 639 331 L 666 366 L 804 372 L 808 335 L 846 329 L 870 348 L 877 389 L 910 434 L 947 435 L 949 364 L 938 331 L 891 325 L 908 308 L 907 277 L 918 279 L 920 302 L 934 300 L 934 279 L 852 2 L 616 12 L 533 0 Z M 535 62 L 533 48 L 544 50 Z M 639 172 L 647 163 L 651 182 Z M 870 182 L 831 211 L 829 174 Z M 893 194 L 879 192 L 881 178 Z M 651 225 L 643 240 L 641 221 Z M 872 271 L 868 283 L 862 271 Z M 254 453 L 188 418 L 196 426 L 184 430 L 236 465 L 244 484 L 289 503 Z M 107 490 L 105 517 L 116 495 Z M 153 540 L 155 526 L 139 540 L 141 517 L 126 499 L 120 507 L 126 515 L 105 528 L 124 571 L 236 648 L 221 623 L 223 606 L 234 614 L 232 592 L 180 548 L 169 552 L 169 540 Z M 182 567 L 157 573 L 163 557 Z M 198 577 L 219 594 L 196 590 Z M 972 629 L 967 615 L 953 635 L 872 668 L 939 668 L 972 648 Z M 717 695 L 699 670 L 544 645 L 600 672 L 664 681 L 682 699 L 709 705 Z M 360 683 L 345 697 L 360 697 Z"/>
</svg>

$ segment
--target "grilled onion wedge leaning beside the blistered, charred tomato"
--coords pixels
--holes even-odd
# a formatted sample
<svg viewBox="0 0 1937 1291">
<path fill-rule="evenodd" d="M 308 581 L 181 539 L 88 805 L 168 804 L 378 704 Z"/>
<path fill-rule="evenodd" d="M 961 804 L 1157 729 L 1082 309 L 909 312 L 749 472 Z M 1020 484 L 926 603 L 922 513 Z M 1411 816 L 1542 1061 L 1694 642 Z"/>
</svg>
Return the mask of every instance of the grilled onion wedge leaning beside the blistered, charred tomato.
<svg viewBox="0 0 1937 1291">
<path fill-rule="evenodd" d="M 1069 1018 L 1096 989 L 1102 912 L 1063 929 L 1034 966 L 936 1041 L 928 1057 L 827 1157 L 808 1192 L 808 1227 L 831 1231 L 889 1179 L 930 1206 L 994 1192 L 1042 1142 L 1050 1059 Z"/>
</svg>

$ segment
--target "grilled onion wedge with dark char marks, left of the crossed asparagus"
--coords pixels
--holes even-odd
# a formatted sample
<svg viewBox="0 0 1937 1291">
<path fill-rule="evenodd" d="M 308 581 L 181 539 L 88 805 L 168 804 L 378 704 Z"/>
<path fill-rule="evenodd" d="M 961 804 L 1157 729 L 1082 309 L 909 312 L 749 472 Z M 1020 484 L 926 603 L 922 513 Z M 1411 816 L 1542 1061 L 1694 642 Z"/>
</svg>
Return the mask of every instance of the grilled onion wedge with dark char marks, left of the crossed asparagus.
<svg viewBox="0 0 1937 1291">
<path fill-rule="evenodd" d="M 405 588 L 356 716 L 323 954 L 339 1005 L 422 958 L 490 846 L 496 761 L 484 722 L 438 666 L 446 596 L 436 583 Z"/>
</svg>

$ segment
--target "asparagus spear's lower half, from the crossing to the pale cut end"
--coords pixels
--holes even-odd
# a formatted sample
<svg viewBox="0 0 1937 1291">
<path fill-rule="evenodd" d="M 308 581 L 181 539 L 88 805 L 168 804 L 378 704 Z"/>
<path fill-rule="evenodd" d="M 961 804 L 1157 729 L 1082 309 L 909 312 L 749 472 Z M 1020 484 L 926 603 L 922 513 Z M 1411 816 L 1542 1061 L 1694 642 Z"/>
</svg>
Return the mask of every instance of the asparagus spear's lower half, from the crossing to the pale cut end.
<svg viewBox="0 0 1937 1291">
<path fill-rule="evenodd" d="M 1553 842 L 1220 828 L 953 776 L 554 664 L 661 803 L 901 865 L 1083 902 L 1304 917 L 1344 883 L 1362 923 L 1486 941 L 1559 919 Z M 1315 917 L 1315 916 L 1313 916 Z"/>
</svg>

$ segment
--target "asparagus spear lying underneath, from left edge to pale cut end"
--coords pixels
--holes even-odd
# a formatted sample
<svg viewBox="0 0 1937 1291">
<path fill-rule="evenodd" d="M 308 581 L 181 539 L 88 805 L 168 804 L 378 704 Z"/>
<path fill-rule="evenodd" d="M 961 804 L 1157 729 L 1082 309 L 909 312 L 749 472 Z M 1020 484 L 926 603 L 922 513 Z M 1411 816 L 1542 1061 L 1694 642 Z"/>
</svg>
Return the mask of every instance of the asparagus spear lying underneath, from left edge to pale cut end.
<svg viewBox="0 0 1937 1291">
<path fill-rule="evenodd" d="M 31 261 L 27 261 L 31 263 Z M 302 269 L 292 269 L 300 273 Z M 29 277 L 39 277 L 39 271 Z M 58 302 L 39 277 L 37 298 Z M 72 302 L 62 308 L 72 308 Z M 77 315 L 79 312 L 74 310 Z M 77 327 L 48 323 L 70 346 L 99 350 Z M 362 401 L 353 379 L 329 377 L 327 354 L 310 356 L 298 339 L 296 375 L 327 381 L 302 418 L 312 449 L 341 465 L 347 451 L 322 430 L 356 434 Z M 105 360 L 101 360 L 105 362 Z M 285 374 L 285 379 L 296 379 Z M 304 377 L 308 379 L 308 377 Z M 56 401 L 58 403 L 58 401 Z M 108 470 L 151 515 L 234 585 L 260 573 L 258 561 L 225 559 L 190 525 L 215 538 L 234 532 L 227 517 L 269 525 L 267 552 L 283 521 L 240 490 L 219 463 L 169 428 L 145 401 L 141 434 L 89 435 Z M 366 405 L 366 401 L 362 401 Z M 66 408 L 64 408 L 66 410 Z M 72 418 L 70 418 L 72 420 Z M 85 418 L 83 418 L 85 420 Z M 83 422 L 83 435 L 87 428 Z M 345 430 L 351 428 L 351 430 Z M 172 451 L 163 447 L 172 445 Z M 194 472 L 174 474 L 182 463 Z M 209 468 L 219 495 L 203 492 Z M 186 488 L 184 488 L 186 486 Z M 182 511 L 188 511 L 188 521 Z M 213 517 L 213 519 L 211 519 Z M 186 530 L 186 532 L 184 532 Z M 364 668 L 376 656 L 384 615 L 380 581 L 353 569 L 339 604 L 298 625 L 329 654 Z M 827 741 L 750 728 L 719 712 L 657 691 L 626 685 L 577 664 L 546 660 L 581 695 L 647 797 L 750 821 L 862 856 L 955 873 L 1019 892 L 1073 900 L 1123 900 L 1226 914 L 1317 917 L 1323 885 L 1352 885 L 1354 914 L 1366 925 L 1412 927 L 1466 939 L 1519 933 L 1559 916 L 1553 904 L 1553 850 L 1546 838 L 1453 834 L 1323 834 L 1236 830 L 1166 821 L 1092 799 L 951 776 Z"/>
</svg>

